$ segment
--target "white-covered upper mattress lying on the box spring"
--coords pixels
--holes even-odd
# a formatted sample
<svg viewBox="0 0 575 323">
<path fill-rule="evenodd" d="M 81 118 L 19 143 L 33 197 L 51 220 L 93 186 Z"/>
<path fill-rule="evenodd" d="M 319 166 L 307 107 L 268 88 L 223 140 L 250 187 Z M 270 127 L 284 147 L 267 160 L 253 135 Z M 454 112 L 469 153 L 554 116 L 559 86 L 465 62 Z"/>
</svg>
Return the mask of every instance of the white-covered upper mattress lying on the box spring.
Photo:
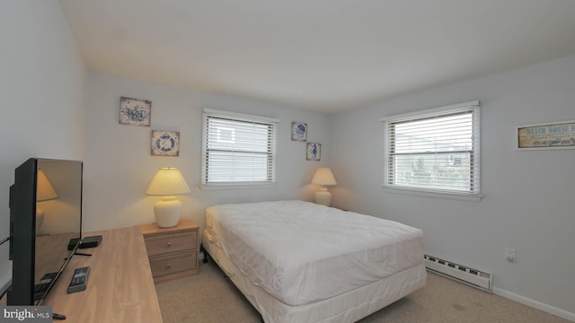
<svg viewBox="0 0 575 323">
<path fill-rule="evenodd" d="M 423 262 L 419 229 L 303 201 L 211 206 L 206 225 L 210 242 L 252 284 L 291 306 Z"/>
</svg>

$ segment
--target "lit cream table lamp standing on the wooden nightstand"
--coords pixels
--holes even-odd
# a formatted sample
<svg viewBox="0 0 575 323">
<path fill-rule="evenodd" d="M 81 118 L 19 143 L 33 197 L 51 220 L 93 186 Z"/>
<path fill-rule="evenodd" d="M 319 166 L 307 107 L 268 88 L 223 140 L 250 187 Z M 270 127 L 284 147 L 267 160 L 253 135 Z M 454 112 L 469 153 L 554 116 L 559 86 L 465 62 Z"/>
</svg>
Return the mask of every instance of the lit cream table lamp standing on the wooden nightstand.
<svg viewBox="0 0 575 323">
<path fill-rule="evenodd" d="M 190 194 L 190 188 L 180 170 L 173 167 L 159 169 L 146 190 L 146 195 L 162 196 L 154 205 L 155 220 L 160 228 L 178 225 L 181 202 L 176 195 Z"/>
</svg>

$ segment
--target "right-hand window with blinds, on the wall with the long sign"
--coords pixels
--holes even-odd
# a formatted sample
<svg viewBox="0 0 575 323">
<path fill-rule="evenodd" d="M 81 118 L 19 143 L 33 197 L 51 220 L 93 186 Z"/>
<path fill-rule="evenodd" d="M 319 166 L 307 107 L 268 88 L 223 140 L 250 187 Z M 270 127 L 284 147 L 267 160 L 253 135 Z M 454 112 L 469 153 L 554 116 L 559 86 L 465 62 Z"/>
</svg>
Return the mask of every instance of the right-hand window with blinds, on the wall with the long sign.
<svg viewBox="0 0 575 323">
<path fill-rule="evenodd" d="M 384 185 L 480 196 L 479 101 L 383 119 Z"/>
</svg>

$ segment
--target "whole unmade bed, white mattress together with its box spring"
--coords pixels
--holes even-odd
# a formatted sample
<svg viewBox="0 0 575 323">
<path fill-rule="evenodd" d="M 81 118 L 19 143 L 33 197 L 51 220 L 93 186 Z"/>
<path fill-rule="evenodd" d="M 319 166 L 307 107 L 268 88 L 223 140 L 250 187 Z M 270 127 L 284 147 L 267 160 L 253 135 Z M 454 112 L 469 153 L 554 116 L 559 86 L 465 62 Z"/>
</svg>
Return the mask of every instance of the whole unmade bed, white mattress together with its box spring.
<svg viewBox="0 0 575 323">
<path fill-rule="evenodd" d="M 355 322 L 426 282 L 419 229 L 304 201 L 210 206 L 202 248 L 266 323 Z"/>
</svg>

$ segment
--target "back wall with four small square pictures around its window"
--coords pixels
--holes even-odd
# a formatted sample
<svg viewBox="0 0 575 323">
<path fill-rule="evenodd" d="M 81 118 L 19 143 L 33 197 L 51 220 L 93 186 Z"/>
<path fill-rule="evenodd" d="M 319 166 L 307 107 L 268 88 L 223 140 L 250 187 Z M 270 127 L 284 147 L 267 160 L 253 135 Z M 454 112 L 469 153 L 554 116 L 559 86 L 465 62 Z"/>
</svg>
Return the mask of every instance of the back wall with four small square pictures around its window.
<svg viewBox="0 0 575 323">
<path fill-rule="evenodd" d="M 151 127 L 119 125 L 119 98 L 152 101 Z M 84 162 L 84 229 L 110 229 L 155 222 L 157 196 L 145 191 L 160 167 L 178 167 L 191 188 L 182 218 L 203 226 L 208 205 L 298 198 L 312 200 L 314 170 L 329 164 L 326 115 L 270 103 L 199 92 L 182 87 L 88 73 L 88 152 Z M 270 188 L 199 189 L 202 111 L 225 109 L 279 118 L 276 186 Z M 322 144 L 321 162 L 305 161 L 305 143 L 291 141 L 291 122 L 306 122 L 308 142 Z M 151 131 L 180 132 L 180 156 L 152 156 Z"/>
</svg>

